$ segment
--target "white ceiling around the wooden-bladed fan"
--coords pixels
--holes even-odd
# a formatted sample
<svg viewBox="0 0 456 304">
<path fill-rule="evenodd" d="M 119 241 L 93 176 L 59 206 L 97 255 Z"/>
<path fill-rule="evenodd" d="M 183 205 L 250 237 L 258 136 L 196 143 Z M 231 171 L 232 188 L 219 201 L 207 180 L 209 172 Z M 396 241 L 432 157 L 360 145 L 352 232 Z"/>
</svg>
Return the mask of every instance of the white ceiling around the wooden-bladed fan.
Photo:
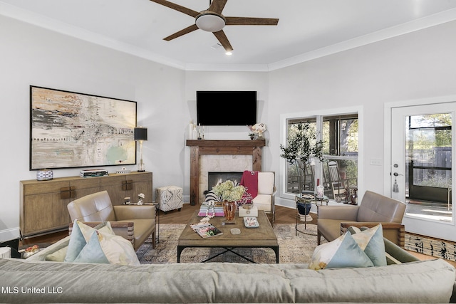
<svg viewBox="0 0 456 304">
<path fill-rule="evenodd" d="M 202 30 L 162 40 L 195 20 L 149 0 L 0 0 L 0 14 L 185 70 L 274 70 L 456 20 L 456 0 L 228 0 L 224 16 L 279 19 L 226 26 L 232 56 Z"/>
</svg>

